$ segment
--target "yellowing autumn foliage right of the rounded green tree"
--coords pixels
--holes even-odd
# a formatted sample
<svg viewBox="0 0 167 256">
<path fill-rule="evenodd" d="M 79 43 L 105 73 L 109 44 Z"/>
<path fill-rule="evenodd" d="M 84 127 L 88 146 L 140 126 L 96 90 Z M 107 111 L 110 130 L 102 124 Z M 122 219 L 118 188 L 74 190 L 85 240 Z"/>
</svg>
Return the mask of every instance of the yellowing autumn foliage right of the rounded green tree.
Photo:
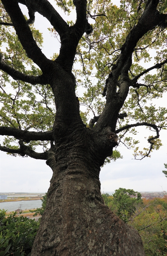
<svg viewBox="0 0 167 256">
<path fill-rule="evenodd" d="M 167 198 L 143 200 L 140 214 L 128 224 L 138 230 L 146 256 L 167 255 Z M 143 210 L 144 209 L 144 210 Z"/>
</svg>

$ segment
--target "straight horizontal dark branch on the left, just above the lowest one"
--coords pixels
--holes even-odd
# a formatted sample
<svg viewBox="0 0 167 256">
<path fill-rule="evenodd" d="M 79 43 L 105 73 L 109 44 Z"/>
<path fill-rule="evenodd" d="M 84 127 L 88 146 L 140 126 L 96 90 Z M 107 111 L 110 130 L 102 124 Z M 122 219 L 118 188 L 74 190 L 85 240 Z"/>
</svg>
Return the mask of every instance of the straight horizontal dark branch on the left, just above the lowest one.
<svg viewBox="0 0 167 256">
<path fill-rule="evenodd" d="M 17 128 L 0 126 L 0 135 L 13 136 L 16 139 L 22 139 L 25 142 L 31 140 L 53 140 L 53 132 L 35 132 L 35 131 L 23 131 Z"/>
</svg>

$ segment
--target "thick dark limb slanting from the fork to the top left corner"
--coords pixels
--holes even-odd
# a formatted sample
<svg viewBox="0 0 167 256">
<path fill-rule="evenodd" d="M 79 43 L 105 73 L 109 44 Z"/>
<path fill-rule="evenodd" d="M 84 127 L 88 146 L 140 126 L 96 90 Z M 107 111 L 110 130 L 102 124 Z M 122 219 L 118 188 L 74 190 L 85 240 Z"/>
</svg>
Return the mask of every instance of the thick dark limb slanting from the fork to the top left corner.
<svg viewBox="0 0 167 256">
<path fill-rule="evenodd" d="M 49 70 L 50 60 L 42 53 L 41 49 L 37 46 L 36 41 L 33 38 L 32 32 L 23 13 L 18 5 L 17 0 L 2 0 L 5 10 L 8 12 L 12 24 L 16 30 L 18 38 L 26 50 L 27 56 L 31 58 L 42 71 L 47 72 Z"/>
</svg>

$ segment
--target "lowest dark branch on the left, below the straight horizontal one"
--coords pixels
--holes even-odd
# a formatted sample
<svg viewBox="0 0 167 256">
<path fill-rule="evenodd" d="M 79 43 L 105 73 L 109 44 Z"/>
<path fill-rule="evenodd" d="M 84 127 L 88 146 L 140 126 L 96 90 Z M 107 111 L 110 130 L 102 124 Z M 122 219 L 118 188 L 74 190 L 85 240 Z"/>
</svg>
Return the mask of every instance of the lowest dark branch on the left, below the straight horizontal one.
<svg viewBox="0 0 167 256">
<path fill-rule="evenodd" d="M 41 160 L 47 160 L 47 151 L 43 153 L 37 153 L 34 150 L 30 148 L 30 146 L 24 145 L 24 143 L 20 140 L 19 141 L 20 148 L 19 149 L 11 149 L 6 146 L 0 145 L 0 150 L 11 153 L 11 154 L 19 154 L 21 156 L 28 155 L 29 157 L 35 158 L 35 159 L 41 159 Z"/>
</svg>

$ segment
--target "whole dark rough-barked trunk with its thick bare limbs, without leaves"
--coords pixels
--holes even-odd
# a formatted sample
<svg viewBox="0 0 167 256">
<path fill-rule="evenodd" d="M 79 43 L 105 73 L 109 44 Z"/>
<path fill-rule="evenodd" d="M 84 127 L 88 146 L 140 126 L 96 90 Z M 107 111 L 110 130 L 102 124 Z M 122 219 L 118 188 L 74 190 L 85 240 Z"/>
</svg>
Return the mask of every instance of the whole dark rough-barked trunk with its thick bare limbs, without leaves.
<svg viewBox="0 0 167 256">
<path fill-rule="evenodd" d="M 18 2 L 29 9 L 29 21 L 25 20 Z M 26 76 L 8 67 L 5 62 L 0 62 L 0 69 L 14 79 L 31 84 L 50 84 L 55 97 L 56 117 L 52 132 L 35 133 L 0 127 L 1 135 L 14 136 L 20 144 L 20 149 L 0 146 L 0 150 L 45 159 L 53 170 L 47 207 L 32 256 L 144 256 L 137 231 L 104 205 L 99 172 L 105 158 L 112 154 L 113 147 L 117 145 L 116 133 L 119 131 L 116 131 L 116 123 L 129 87 L 137 86 L 137 78 L 130 80 L 128 77 L 134 47 L 144 34 L 164 23 L 167 16 L 156 11 L 157 0 L 147 2 L 106 81 L 104 111 L 96 118 L 96 124 L 92 121 L 92 129 L 89 129 L 80 118 L 72 65 L 80 38 L 84 32 L 88 34 L 92 27 L 87 21 L 86 0 L 73 2 L 77 21 L 69 27 L 47 0 L 2 0 L 27 56 L 41 68 L 43 74 L 38 77 Z M 35 12 L 46 17 L 60 35 L 60 54 L 55 61 L 47 59 L 33 39 L 29 23 L 34 19 Z M 24 145 L 30 140 L 50 140 L 51 148 L 44 153 L 36 153 Z"/>
</svg>

